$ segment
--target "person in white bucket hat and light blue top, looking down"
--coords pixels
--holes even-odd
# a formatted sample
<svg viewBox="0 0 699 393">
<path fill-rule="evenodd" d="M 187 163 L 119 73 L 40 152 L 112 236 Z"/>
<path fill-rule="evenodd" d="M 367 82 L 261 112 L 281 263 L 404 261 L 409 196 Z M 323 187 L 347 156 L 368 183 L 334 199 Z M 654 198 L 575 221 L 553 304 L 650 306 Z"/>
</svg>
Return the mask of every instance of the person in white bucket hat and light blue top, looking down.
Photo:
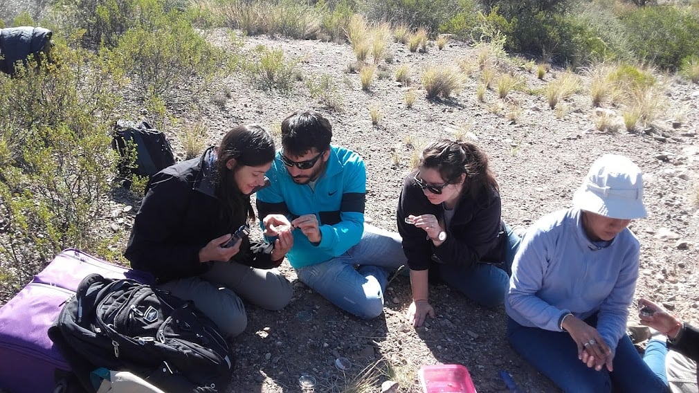
<svg viewBox="0 0 699 393">
<path fill-rule="evenodd" d="M 645 217 L 638 166 L 603 155 L 573 206 L 530 227 L 505 299 L 512 348 L 565 392 L 664 392 L 626 336 Z"/>
</svg>

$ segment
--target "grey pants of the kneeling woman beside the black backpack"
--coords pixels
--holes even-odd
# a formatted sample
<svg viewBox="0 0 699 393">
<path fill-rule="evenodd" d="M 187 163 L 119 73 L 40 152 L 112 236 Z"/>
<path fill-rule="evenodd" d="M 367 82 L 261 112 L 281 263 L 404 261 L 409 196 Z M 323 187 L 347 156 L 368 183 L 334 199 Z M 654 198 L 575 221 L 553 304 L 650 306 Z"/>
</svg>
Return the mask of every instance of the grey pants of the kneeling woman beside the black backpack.
<svg viewBox="0 0 699 393">
<path fill-rule="evenodd" d="M 180 299 L 192 300 L 224 335 L 238 336 L 247 327 L 240 298 L 268 310 L 280 310 L 291 300 L 291 284 L 277 269 L 262 270 L 236 262 L 214 262 L 198 277 L 160 285 Z M 240 297 L 239 297 L 240 296 Z"/>
</svg>

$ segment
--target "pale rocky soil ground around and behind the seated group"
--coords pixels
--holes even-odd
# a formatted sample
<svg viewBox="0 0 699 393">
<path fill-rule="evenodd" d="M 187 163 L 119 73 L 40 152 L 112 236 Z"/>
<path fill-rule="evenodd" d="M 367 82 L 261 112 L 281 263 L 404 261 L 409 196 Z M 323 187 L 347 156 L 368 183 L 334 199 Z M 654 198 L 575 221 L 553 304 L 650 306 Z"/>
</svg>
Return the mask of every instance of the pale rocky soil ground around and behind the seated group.
<svg viewBox="0 0 699 393">
<path fill-rule="evenodd" d="M 231 45 L 229 31 L 212 31 L 209 36 L 218 45 Z M 347 44 L 245 38 L 245 48 L 255 45 L 280 47 L 287 57 L 303 58 L 299 64 L 303 81 L 289 94 L 279 94 L 254 89 L 244 76 L 223 80 L 220 90 L 210 95 L 220 98 L 227 88 L 231 98 L 223 108 L 210 103 L 201 118 L 210 130 L 208 143 L 217 143 L 236 124 L 257 122 L 273 130 L 297 108 L 320 110 L 333 124 L 333 142 L 356 150 L 366 161 L 367 221 L 391 230 L 396 229 L 398 193 L 412 168 L 415 149 L 438 138 L 454 138 L 455 132 L 477 140 L 489 153 L 500 183 L 503 219 L 513 226 L 527 226 L 545 213 L 570 206 L 572 192 L 603 153 L 627 155 L 644 171 L 644 201 L 649 210 L 649 217 L 631 224 L 642 244 L 636 297 L 659 301 L 685 320 L 698 321 L 698 85 L 663 78 L 668 89 L 658 99 L 666 106 L 652 127 L 635 133 L 621 127 L 607 133 L 594 126 L 597 115 L 587 86 L 563 103 L 568 108 L 563 116 L 549 109 L 542 94 L 524 89 L 510 93 L 507 103 L 492 90 L 485 94 L 485 102 L 478 101 L 480 71 L 452 99 L 427 100 L 420 88 L 421 70 L 428 64 L 475 61 L 476 50 L 463 43 L 449 43 L 444 50 L 433 46 L 427 53 L 392 44 L 393 62 L 385 71 L 389 78 L 376 80 L 369 92 L 361 90 L 359 74 L 347 71 L 354 61 Z M 403 64 L 410 65 L 412 87 L 418 88 L 412 108 L 405 106 L 405 87 L 393 80 L 396 68 Z M 544 80 L 538 80 L 524 68 L 511 65 L 509 69 L 524 78 L 530 90 L 545 87 L 563 71 L 554 67 Z M 323 74 L 331 75 L 340 89 L 344 103 L 340 112 L 310 98 L 305 81 Z M 521 108 L 516 120 L 507 119 L 507 109 L 498 110 L 507 105 Z M 376 126 L 370 106 L 383 114 Z M 609 109 L 619 114 L 617 108 Z M 185 121 L 199 120 L 187 110 L 176 115 Z M 171 140 L 181 157 L 183 150 L 173 132 Z M 134 209 L 118 213 L 124 205 Z M 117 214 L 112 224 L 128 231 L 138 201 L 127 199 L 114 207 Z M 384 315 L 365 321 L 311 292 L 296 280 L 288 264 L 281 270 L 294 285 L 294 298 L 278 312 L 247 308 L 247 330 L 233 341 L 238 364 L 229 392 L 301 392 L 298 380 L 305 374 L 315 377 L 315 392 L 354 392 L 349 388 L 357 380 L 370 383 L 372 388 L 366 392 L 381 392 L 381 383 L 389 379 L 398 380 L 398 392 L 421 392 L 417 371 L 422 365 L 438 363 L 468 367 L 478 392 L 507 392 L 500 370 L 510 372 L 523 392 L 557 391 L 510 349 L 502 306 L 481 308 L 448 287 L 432 286 L 430 298 L 437 317 L 415 329 L 405 319 L 410 283 L 399 276 L 387 290 Z M 630 320 L 635 320 L 633 310 Z M 335 366 L 338 357 L 349 359 L 349 369 Z M 386 369 L 387 364 L 396 375 L 377 374 L 377 381 L 366 377 L 366 370 Z"/>
</svg>

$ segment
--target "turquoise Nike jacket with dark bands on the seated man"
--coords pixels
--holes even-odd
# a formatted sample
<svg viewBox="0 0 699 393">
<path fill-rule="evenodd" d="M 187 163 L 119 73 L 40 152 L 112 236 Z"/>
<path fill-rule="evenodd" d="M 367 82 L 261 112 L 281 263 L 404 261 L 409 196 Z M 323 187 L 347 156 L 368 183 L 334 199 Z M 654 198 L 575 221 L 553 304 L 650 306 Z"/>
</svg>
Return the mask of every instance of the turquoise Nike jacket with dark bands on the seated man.
<svg viewBox="0 0 699 393">
<path fill-rule="evenodd" d="M 300 230 L 294 230 L 294 246 L 287 253 L 291 266 L 298 269 L 326 262 L 359 243 L 366 194 L 363 159 L 352 150 L 331 145 L 326 169 L 313 190 L 308 184 L 294 183 L 280 155 L 277 152 L 267 172 L 271 186 L 257 192 L 260 219 L 271 213 L 283 214 L 289 221 L 315 214 L 322 234 L 320 243 L 314 245 Z"/>
</svg>

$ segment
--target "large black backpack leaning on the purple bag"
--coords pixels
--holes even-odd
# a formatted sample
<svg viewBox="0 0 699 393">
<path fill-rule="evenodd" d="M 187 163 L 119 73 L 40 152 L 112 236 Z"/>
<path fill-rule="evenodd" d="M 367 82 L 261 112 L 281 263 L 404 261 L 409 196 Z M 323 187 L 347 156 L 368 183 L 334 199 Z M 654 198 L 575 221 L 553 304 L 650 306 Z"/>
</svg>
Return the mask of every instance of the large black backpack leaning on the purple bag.
<svg viewBox="0 0 699 393">
<path fill-rule="evenodd" d="M 233 371 L 212 320 L 191 301 L 136 280 L 83 278 L 49 336 L 88 392 L 100 367 L 131 371 L 166 392 L 223 391 Z"/>
</svg>

